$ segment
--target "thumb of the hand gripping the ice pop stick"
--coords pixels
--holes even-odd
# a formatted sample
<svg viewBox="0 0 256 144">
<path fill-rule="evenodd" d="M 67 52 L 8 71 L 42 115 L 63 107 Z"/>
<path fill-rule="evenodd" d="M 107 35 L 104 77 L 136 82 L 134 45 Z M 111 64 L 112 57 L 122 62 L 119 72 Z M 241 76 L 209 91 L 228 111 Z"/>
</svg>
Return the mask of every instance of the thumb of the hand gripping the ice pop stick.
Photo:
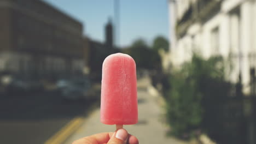
<svg viewBox="0 0 256 144">
<path fill-rule="evenodd" d="M 126 144 L 128 133 L 125 129 L 118 129 L 110 138 L 107 144 Z"/>
</svg>

